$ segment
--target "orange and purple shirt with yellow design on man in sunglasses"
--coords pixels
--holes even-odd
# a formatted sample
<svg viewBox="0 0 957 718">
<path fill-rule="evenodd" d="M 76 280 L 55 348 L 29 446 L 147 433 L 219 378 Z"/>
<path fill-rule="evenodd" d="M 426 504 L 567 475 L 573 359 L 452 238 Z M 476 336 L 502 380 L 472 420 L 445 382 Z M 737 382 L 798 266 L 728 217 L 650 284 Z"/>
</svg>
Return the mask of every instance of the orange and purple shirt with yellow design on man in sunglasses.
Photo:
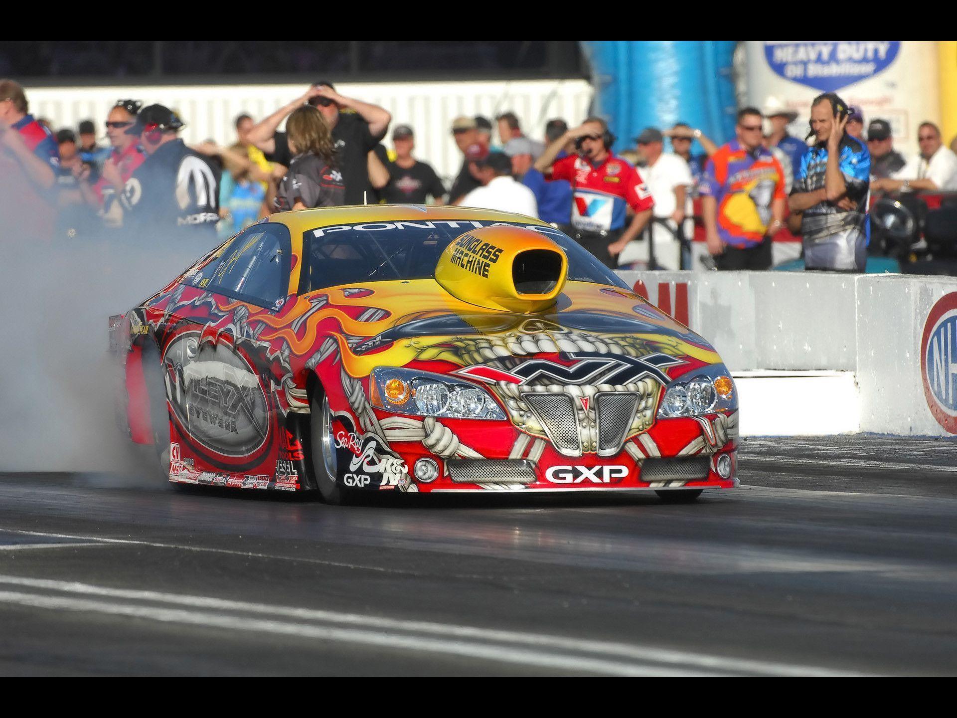
<svg viewBox="0 0 957 718">
<path fill-rule="evenodd" d="M 767 147 L 748 152 L 735 140 L 707 161 L 699 191 L 718 203 L 718 236 L 732 247 L 754 247 L 768 232 L 771 202 L 786 198 L 784 169 Z"/>
</svg>

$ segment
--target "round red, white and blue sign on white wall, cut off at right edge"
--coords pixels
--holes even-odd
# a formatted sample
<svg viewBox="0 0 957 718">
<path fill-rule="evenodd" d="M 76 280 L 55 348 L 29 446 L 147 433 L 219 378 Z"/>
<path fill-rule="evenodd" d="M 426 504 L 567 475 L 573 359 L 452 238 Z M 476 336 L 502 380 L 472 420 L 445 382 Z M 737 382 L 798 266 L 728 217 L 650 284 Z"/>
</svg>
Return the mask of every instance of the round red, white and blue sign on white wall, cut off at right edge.
<svg viewBox="0 0 957 718">
<path fill-rule="evenodd" d="M 930 413 L 957 434 L 957 292 L 941 297 L 924 322 L 921 379 Z"/>
</svg>

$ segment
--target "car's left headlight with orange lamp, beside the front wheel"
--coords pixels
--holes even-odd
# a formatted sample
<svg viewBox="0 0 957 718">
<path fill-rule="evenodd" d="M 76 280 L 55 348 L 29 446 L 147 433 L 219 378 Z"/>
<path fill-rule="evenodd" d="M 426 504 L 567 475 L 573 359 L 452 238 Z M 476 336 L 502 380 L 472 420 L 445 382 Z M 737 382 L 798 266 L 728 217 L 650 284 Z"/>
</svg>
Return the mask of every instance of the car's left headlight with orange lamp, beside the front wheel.
<svg viewBox="0 0 957 718">
<path fill-rule="evenodd" d="M 372 406 L 390 412 L 445 418 L 505 418 L 481 387 L 442 374 L 376 367 L 369 378 Z"/>
</svg>

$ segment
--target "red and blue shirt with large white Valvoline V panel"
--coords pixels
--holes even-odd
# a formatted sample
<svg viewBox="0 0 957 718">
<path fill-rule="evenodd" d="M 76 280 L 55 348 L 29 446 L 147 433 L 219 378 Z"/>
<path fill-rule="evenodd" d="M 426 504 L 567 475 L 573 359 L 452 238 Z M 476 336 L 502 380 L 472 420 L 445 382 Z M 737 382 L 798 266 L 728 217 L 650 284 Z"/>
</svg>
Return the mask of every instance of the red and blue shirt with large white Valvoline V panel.
<svg viewBox="0 0 957 718">
<path fill-rule="evenodd" d="M 638 170 L 614 155 L 597 167 L 578 155 L 563 157 L 551 166 L 549 179 L 571 183 L 571 224 L 586 232 L 622 229 L 626 205 L 634 212 L 655 206 Z"/>
</svg>

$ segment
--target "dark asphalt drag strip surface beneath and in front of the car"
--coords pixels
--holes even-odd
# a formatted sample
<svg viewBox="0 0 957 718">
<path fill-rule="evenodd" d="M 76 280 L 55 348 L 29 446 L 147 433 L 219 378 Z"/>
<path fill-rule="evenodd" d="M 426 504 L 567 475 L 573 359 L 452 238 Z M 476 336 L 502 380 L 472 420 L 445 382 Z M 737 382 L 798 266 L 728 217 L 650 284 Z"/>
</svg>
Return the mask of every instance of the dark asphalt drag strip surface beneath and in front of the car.
<svg viewBox="0 0 957 718">
<path fill-rule="evenodd" d="M 957 673 L 957 443 L 751 438 L 740 478 L 335 507 L 0 475 L 0 674 Z"/>
</svg>

